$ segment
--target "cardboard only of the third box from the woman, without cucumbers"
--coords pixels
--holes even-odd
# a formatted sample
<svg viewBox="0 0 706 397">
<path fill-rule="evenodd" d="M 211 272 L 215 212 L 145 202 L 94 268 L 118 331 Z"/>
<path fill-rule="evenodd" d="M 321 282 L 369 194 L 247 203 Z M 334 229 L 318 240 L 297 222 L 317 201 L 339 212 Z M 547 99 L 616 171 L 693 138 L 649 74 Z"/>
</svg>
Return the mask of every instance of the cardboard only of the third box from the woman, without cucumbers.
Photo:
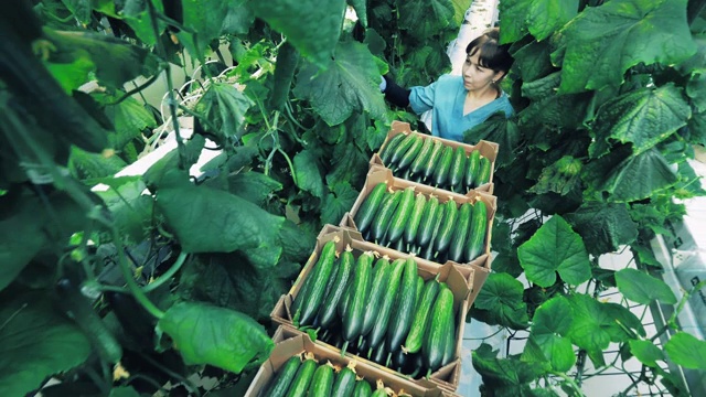
<svg viewBox="0 0 706 397">
<path fill-rule="evenodd" d="M 408 254 L 403 254 L 394 249 L 381 247 L 375 244 L 365 242 L 361 238 L 360 233 L 355 230 L 351 230 L 343 227 L 336 227 L 333 225 L 327 225 L 319 234 L 319 237 L 317 238 L 315 249 L 312 253 L 312 255 L 309 257 L 309 260 L 304 265 L 304 268 L 302 269 L 301 273 L 297 278 L 297 281 L 290 289 L 289 293 L 284 294 L 279 299 L 279 301 L 275 305 L 275 309 L 270 313 L 270 318 L 272 319 L 274 322 L 280 325 L 296 329 L 292 322 L 293 313 L 291 313 L 290 311 L 291 304 L 295 298 L 297 297 L 297 294 L 299 293 L 304 280 L 307 279 L 307 277 L 309 277 L 314 264 L 317 262 L 319 258 L 319 254 L 323 248 L 323 245 L 330 240 L 336 240 L 336 253 L 342 251 L 343 249 L 345 249 L 346 246 L 350 245 L 351 248 L 353 248 L 353 255 L 356 258 L 367 250 L 377 251 L 379 253 L 381 256 L 387 255 L 391 258 L 391 260 L 398 259 L 398 258 L 408 258 L 408 257 L 414 258 L 414 256 L 410 256 Z M 461 344 L 462 344 L 462 337 L 463 337 L 463 329 L 466 326 L 466 313 L 468 312 L 468 309 L 472 304 L 472 301 L 469 300 L 469 297 L 471 297 L 471 293 L 470 293 L 471 288 L 474 285 L 473 279 L 474 279 L 475 271 L 473 270 L 473 268 L 470 268 L 470 267 L 463 268 L 452 262 L 441 266 L 441 265 L 432 264 L 427 260 L 421 260 L 418 258 L 415 258 L 415 260 L 417 262 L 418 272 L 425 280 L 431 279 L 437 275 L 439 275 L 439 281 L 445 281 L 448 285 L 451 292 L 453 292 L 453 308 L 457 312 L 458 329 L 457 329 L 457 341 L 456 341 L 456 360 L 449 363 L 448 365 L 441 367 L 439 371 L 435 372 L 434 374 L 431 374 L 429 379 L 425 379 L 425 378 L 413 379 L 411 382 L 428 388 L 438 386 L 446 390 L 456 390 L 459 384 L 459 376 L 461 371 L 460 354 L 461 354 Z M 466 273 L 462 273 L 460 270 L 464 270 Z M 341 351 L 333 345 L 327 344 L 322 341 L 317 341 L 315 343 L 327 345 L 328 348 L 331 348 L 338 352 L 339 355 L 341 354 Z M 387 372 L 392 375 L 407 378 L 405 375 L 399 374 L 391 368 L 378 365 L 366 358 L 359 357 L 349 352 L 345 353 L 345 356 L 357 357 L 357 360 L 363 361 L 368 365 L 372 365 L 378 368 L 378 371 Z"/>
</svg>

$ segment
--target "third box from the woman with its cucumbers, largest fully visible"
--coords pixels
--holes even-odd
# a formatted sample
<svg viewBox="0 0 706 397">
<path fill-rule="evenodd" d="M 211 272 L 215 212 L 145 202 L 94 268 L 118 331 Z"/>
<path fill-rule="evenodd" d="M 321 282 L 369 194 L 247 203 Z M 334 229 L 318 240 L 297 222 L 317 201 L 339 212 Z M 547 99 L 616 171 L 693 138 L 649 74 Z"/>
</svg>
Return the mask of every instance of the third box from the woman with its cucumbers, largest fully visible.
<svg viewBox="0 0 706 397">
<path fill-rule="evenodd" d="M 328 226 L 272 321 L 384 371 L 456 389 L 470 276 Z"/>
</svg>

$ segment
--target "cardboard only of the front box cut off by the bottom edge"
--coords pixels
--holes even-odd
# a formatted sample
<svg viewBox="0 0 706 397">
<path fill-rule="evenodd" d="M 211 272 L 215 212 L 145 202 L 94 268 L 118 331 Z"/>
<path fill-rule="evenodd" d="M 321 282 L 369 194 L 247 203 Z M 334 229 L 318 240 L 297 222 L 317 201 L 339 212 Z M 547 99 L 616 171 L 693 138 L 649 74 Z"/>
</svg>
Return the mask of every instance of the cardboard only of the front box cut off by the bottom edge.
<svg viewBox="0 0 706 397">
<path fill-rule="evenodd" d="M 344 367 L 347 366 L 353 357 L 341 357 L 340 352 L 332 351 L 325 345 L 311 342 L 309 335 L 297 330 L 280 326 L 272 336 L 275 342 L 275 348 L 260 368 L 258 369 L 253 383 L 245 391 L 245 397 L 257 397 L 261 390 L 266 389 L 274 380 L 275 375 L 279 368 L 293 355 L 301 354 L 303 352 L 313 353 L 314 358 L 319 363 L 325 363 L 330 361 L 333 365 Z M 367 380 L 373 390 L 377 379 L 381 379 L 386 387 L 392 388 L 395 393 L 403 390 L 406 395 L 413 397 L 457 397 L 459 395 L 450 393 L 448 390 L 441 390 L 438 387 L 424 387 L 417 385 L 408 379 L 399 376 L 391 375 L 386 372 L 381 372 L 378 368 L 368 365 L 363 361 L 356 361 L 355 363 L 356 374 Z"/>
</svg>

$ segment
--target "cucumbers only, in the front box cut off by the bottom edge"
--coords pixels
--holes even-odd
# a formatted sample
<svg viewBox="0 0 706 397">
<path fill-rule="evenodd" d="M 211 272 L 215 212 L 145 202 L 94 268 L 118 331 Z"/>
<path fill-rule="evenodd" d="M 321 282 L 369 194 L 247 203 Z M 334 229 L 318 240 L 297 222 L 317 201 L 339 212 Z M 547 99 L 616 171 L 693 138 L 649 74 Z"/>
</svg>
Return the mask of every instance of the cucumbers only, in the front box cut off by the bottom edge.
<svg viewBox="0 0 706 397">
<path fill-rule="evenodd" d="M 277 371 L 275 379 L 260 397 L 382 397 L 387 390 L 382 382 L 376 389 L 365 379 L 356 379 L 355 362 L 340 368 L 330 362 L 319 364 L 313 354 L 306 353 L 290 357 Z"/>
</svg>

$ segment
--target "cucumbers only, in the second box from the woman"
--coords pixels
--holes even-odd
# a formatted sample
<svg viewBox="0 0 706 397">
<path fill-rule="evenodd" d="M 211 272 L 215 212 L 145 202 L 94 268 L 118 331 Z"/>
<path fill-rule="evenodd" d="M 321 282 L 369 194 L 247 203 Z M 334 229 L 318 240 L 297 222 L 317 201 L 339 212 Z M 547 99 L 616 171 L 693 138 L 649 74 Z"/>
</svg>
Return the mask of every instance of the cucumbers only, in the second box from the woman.
<svg viewBox="0 0 706 397">
<path fill-rule="evenodd" d="M 488 234 L 485 203 L 439 202 L 415 195 L 414 186 L 388 191 L 384 182 L 373 187 L 353 221 L 368 242 L 443 264 L 469 262 L 484 251 Z"/>
</svg>

